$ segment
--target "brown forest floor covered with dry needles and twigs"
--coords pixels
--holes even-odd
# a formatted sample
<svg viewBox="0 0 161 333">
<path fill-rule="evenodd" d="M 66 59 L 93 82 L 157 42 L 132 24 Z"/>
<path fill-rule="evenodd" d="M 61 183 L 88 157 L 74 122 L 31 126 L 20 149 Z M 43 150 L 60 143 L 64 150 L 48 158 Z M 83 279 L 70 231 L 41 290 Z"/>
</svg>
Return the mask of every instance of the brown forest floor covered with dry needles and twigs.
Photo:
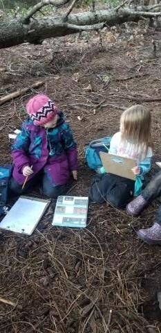
<svg viewBox="0 0 161 333">
<path fill-rule="evenodd" d="M 84 146 L 91 139 L 113 135 L 121 108 L 136 103 L 133 98 L 152 111 L 154 161 L 161 157 L 161 33 L 137 25 L 129 29 L 105 29 L 102 45 L 96 33 L 84 33 L 79 39 L 63 37 L 1 51 L 0 96 L 46 78 L 46 85 L 37 91 L 50 95 L 70 121 L 79 151 L 79 180 L 70 194 L 88 194 L 93 173 L 84 162 Z M 131 78 L 138 74 L 140 78 Z M 21 126 L 23 103 L 33 93 L 1 106 L 1 164 L 11 162 L 8 133 Z M 160 101 L 142 101 L 149 96 Z M 100 103 L 106 106 L 98 107 Z M 39 193 L 35 189 L 32 195 Z M 32 236 L 1 231 L 0 296 L 17 306 L 0 298 L 0 332 L 161 332 L 156 301 L 160 246 L 143 244 L 135 233 L 151 225 L 159 205 L 155 200 L 133 219 L 108 203 L 90 203 L 87 228 L 74 230 L 51 225 L 52 200 Z"/>
</svg>

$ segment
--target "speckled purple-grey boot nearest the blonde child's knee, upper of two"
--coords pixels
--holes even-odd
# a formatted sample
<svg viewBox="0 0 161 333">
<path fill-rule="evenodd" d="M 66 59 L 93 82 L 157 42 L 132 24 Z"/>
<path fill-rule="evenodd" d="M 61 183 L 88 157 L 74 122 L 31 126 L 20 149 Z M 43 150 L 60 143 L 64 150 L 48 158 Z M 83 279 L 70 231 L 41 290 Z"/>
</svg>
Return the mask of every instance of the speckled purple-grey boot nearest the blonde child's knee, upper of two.
<svg viewBox="0 0 161 333">
<path fill-rule="evenodd" d="M 148 202 L 143 198 L 142 194 L 137 196 L 131 203 L 126 205 L 126 212 L 132 216 L 137 216 L 144 210 L 144 207 L 148 204 Z"/>
</svg>

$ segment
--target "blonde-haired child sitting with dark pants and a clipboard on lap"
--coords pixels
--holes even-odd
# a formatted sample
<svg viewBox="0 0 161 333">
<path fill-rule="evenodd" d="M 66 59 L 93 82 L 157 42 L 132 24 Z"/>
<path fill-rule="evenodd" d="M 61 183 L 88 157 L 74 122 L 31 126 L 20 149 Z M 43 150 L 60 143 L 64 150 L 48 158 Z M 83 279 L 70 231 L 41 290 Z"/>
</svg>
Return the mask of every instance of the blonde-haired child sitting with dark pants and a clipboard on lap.
<svg viewBox="0 0 161 333">
<path fill-rule="evenodd" d="M 112 173 L 97 175 L 90 189 L 91 200 L 123 207 L 132 196 L 138 196 L 144 174 L 151 169 L 151 147 L 151 113 L 142 105 L 133 105 L 122 113 L 120 132 L 113 135 L 109 153 L 137 161 L 132 169 L 136 181 Z"/>
</svg>

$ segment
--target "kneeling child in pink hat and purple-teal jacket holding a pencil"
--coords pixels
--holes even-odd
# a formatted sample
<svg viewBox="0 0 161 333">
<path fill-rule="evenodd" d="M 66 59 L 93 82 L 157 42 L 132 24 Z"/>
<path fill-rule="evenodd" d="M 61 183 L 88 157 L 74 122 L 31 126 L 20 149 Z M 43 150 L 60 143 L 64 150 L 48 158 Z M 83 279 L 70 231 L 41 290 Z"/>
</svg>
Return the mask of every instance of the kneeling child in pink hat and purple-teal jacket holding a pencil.
<svg viewBox="0 0 161 333">
<path fill-rule="evenodd" d="M 26 111 L 30 117 L 12 144 L 10 190 L 22 194 L 39 181 L 46 196 L 64 195 L 70 175 L 77 180 L 77 146 L 72 130 L 63 112 L 44 94 L 30 99 Z M 26 177 L 28 182 L 22 189 Z"/>
</svg>

